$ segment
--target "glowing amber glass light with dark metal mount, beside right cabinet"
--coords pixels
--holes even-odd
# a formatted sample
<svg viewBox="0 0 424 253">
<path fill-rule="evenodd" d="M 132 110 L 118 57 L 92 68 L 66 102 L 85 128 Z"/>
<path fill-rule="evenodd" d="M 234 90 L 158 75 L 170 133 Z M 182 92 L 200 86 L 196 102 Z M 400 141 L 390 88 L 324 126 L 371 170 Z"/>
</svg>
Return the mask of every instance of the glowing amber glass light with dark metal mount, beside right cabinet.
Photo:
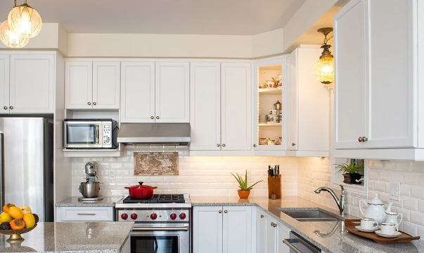
<svg viewBox="0 0 424 253">
<path fill-rule="evenodd" d="M 323 53 L 321 53 L 318 62 L 316 62 L 314 66 L 314 75 L 318 81 L 325 84 L 327 88 L 330 89 L 334 87 L 334 59 L 329 50 L 331 45 L 327 44 L 327 35 L 333 32 L 333 27 L 323 27 L 318 29 L 318 32 L 324 34 L 326 38 L 324 39 L 323 46 L 321 46 L 321 48 L 323 48 Z"/>
</svg>

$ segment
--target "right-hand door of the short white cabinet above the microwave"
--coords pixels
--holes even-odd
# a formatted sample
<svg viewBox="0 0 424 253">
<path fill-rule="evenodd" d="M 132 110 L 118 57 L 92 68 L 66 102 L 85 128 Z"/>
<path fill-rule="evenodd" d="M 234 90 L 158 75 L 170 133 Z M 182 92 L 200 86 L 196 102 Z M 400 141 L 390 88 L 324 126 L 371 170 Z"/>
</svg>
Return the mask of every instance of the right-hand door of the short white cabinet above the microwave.
<svg viewBox="0 0 424 253">
<path fill-rule="evenodd" d="M 120 62 L 93 62 L 93 108 L 120 109 Z"/>
</svg>

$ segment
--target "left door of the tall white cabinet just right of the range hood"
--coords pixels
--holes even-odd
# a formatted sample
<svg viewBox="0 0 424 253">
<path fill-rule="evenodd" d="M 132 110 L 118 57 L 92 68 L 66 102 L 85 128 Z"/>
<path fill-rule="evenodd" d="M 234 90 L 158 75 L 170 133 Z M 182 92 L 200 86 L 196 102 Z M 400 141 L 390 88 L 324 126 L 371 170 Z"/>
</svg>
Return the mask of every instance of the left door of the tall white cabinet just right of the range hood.
<svg viewBox="0 0 424 253">
<path fill-rule="evenodd" d="M 220 76 L 219 63 L 190 64 L 190 150 L 221 149 Z"/>
</svg>

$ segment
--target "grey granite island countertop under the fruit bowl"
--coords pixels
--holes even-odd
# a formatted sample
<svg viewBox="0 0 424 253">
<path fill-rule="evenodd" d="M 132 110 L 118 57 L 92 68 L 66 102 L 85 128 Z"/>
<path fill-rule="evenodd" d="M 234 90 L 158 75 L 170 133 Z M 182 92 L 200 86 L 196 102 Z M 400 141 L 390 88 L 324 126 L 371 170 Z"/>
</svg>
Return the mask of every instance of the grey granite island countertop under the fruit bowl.
<svg viewBox="0 0 424 253">
<path fill-rule="evenodd" d="M 22 243 L 8 243 L 0 235 L 0 252 L 118 253 L 129 238 L 134 222 L 39 222 L 21 236 Z"/>
</svg>

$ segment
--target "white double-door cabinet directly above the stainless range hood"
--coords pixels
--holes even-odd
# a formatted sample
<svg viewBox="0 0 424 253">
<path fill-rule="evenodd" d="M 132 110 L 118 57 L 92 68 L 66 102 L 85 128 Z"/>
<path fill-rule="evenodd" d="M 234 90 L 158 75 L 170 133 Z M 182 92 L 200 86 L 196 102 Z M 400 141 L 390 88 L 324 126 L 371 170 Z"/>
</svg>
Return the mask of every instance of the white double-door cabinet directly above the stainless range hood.
<svg viewBox="0 0 424 253">
<path fill-rule="evenodd" d="M 122 62 L 121 122 L 189 122 L 188 62 Z"/>
</svg>

